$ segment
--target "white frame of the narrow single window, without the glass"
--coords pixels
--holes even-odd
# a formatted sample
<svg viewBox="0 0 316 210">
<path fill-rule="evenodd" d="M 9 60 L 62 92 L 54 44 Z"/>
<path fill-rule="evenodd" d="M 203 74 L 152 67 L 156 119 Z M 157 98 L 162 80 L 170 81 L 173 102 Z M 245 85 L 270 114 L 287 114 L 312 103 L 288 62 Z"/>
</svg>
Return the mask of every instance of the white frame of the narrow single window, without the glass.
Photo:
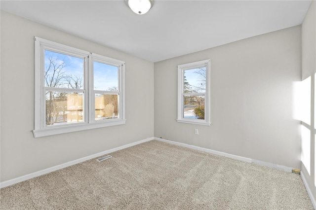
<svg viewBox="0 0 316 210">
<path fill-rule="evenodd" d="M 177 122 L 180 123 L 190 123 L 197 125 L 210 126 L 211 117 L 210 117 L 210 72 L 211 72 L 211 60 L 197 61 L 188 64 L 178 65 L 178 113 L 177 113 Z M 205 93 L 184 93 L 184 71 L 198 68 L 206 68 L 206 90 Z M 184 106 L 184 96 L 185 95 L 201 95 L 204 96 L 205 100 L 205 109 L 204 109 L 204 119 L 190 119 L 183 117 L 183 106 Z"/>
</svg>

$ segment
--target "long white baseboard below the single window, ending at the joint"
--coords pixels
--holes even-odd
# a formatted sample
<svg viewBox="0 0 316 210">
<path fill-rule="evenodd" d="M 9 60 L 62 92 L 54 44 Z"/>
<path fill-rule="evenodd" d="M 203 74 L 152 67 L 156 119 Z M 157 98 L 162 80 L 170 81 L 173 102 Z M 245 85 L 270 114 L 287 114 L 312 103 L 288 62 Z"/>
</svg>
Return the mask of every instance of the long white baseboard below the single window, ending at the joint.
<svg viewBox="0 0 316 210">
<path fill-rule="evenodd" d="M 237 156 L 237 155 L 232 155 L 232 154 L 228 154 L 228 153 L 225 153 L 225 152 L 219 152 L 219 151 L 212 150 L 212 149 L 206 149 L 206 148 L 195 146 L 195 145 L 189 145 L 189 144 L 186 144 L 186 143 L 180 143 L 180 142 L 176 142 L 176 141 L 172 141 L 172 140 L 165 140 L 165 139 L 161 139 L 161 138 L 157 138 L 157 137 L 154 137 L 154 139 L 155 140 L 159 140 L 159 141 L 163 141 L 163 142 L 166 142 L 166 143 L 172 143 L 172 144 L 175 144 L 175 145 L 184 146 L 184 147 L 191 148 L 191 149 L 200 150 L 200 151 L 203 151 L 203 152 L 208 152 L 208 153 L 212 153 L 212 154 L 216 154 L 216 155 L 220 155 L 220 156 L 225 156 L 225 157 L 229 157 L 229 158 L 233 158 L 233 159 L 237 159 L 237 160 L 242 160 L 242 161 L 249 162 L 249 163 L 251 163 L 251 161 L 252 161 L 250 158 L 245 158 L 245 157 L 241 157 L 241 156 Z"/>
</svg>

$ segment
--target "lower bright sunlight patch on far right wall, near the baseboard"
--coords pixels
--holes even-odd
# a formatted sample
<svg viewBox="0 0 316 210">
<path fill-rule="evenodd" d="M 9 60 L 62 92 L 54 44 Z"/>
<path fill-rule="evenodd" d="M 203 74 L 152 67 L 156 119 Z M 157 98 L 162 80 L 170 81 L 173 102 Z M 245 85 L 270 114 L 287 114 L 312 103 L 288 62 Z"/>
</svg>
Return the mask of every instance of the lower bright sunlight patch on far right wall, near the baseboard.
<svg viewBox="0 0 316 210">
<path fill-rule="evenodd" d="M 301 125 L 301 128 L 302 128 L 301 160 L 308 174 L 311 175 L 311 131 L 310 129 L 306 128 L 304 125 Z"/>
</svg>

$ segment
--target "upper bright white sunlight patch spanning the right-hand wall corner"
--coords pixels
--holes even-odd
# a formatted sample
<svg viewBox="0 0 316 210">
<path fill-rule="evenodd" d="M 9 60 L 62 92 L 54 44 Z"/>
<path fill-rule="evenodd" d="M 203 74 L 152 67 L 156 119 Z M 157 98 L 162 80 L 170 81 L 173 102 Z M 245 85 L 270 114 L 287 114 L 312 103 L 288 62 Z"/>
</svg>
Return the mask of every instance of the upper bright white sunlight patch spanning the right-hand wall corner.
<svg viewBox="0 0 316 210">
<path fill-rule="evenodd" d="M 293 118 L 311 125 L 311 77 L 293 83 Z"/>
</svg>

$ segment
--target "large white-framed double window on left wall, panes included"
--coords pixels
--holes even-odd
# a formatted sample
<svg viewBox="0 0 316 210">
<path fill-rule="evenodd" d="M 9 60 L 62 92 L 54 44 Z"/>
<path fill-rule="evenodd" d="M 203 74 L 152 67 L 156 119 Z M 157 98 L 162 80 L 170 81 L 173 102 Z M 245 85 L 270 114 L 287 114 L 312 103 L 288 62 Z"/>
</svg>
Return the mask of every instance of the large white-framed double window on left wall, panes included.
<svg viewBox="0 0 316 210">
<path fill-rule="evenodd" d="M 34 137 L 124 124 L 124 66 L 35 37 Z"/>
</svg>

